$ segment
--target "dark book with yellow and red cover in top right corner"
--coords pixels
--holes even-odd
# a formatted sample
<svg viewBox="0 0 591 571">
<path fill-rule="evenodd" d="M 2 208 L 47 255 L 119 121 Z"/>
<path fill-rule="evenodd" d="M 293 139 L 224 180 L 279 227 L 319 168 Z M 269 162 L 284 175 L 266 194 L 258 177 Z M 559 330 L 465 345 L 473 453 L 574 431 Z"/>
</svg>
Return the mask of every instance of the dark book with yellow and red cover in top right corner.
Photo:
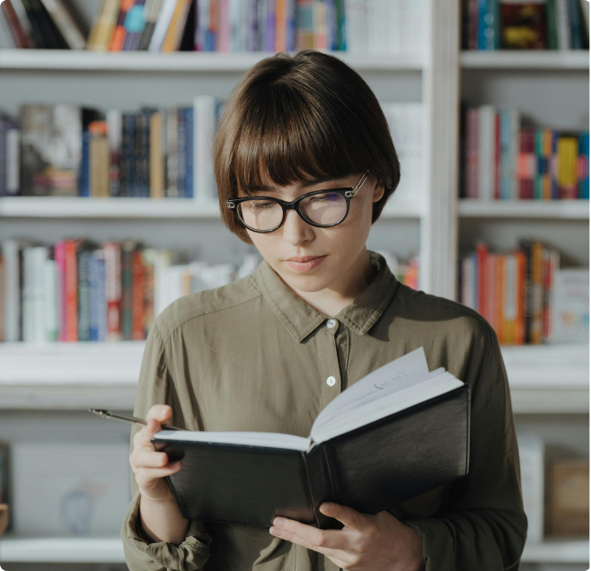
<svg viewBox="0 0 591 571">
<path fill-rule="evenodd" d="M 546 49 L 547 4 L 537 2 L 508 2 L 502 0 L 500 13 L 502 22 L 503 49 Z"/>
</svg>

